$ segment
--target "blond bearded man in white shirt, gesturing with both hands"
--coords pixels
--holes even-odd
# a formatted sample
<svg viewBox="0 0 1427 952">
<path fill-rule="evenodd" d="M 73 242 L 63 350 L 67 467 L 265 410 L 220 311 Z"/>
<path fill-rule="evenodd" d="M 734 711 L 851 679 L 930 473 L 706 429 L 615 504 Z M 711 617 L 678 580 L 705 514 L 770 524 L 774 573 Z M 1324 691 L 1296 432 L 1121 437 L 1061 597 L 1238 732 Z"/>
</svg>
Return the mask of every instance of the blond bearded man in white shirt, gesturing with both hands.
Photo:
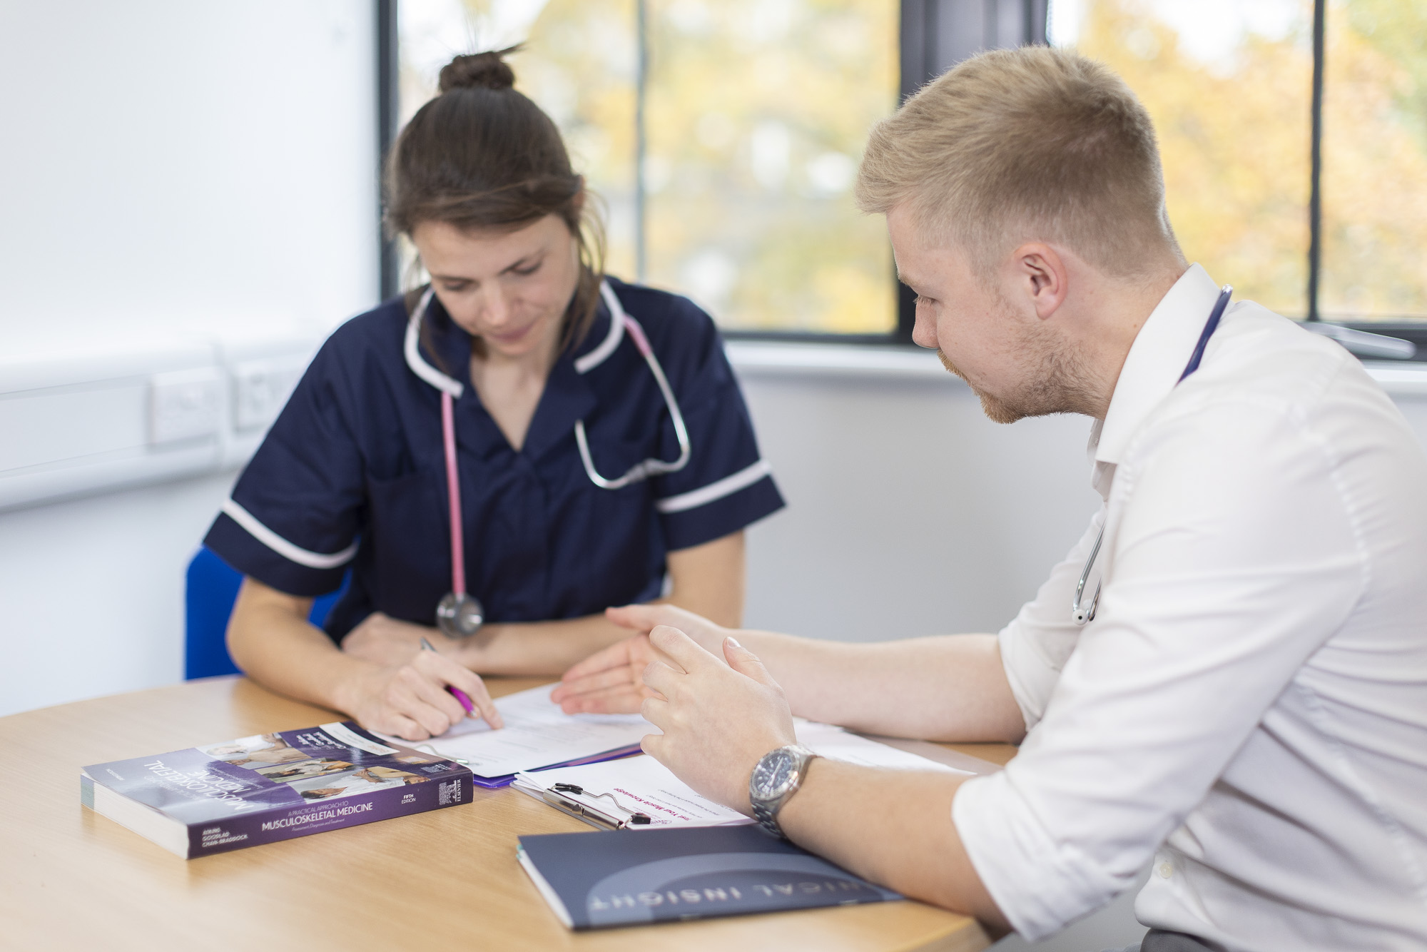
<svg viewBox="0 0 1427 952">
<path fill-rule="evenodd" d="M 858 194 L 987 415 L 1096 420 L 1103 508 L 999 635 L 625 608 L 648 639 L 557 699 L 649 695 L 691 786 L 993 929 L 1050 935 L 1150 865 L 1144 952 L 1427 948 L 1427 454 L 1391 401 L 1257 304 L 1214 328 L 1149 117 L 1072 53 L 958 66 L 873 130 Z M 808 761 L 791 714 L 1022 748 L 968 781 Z"/>
</svg>

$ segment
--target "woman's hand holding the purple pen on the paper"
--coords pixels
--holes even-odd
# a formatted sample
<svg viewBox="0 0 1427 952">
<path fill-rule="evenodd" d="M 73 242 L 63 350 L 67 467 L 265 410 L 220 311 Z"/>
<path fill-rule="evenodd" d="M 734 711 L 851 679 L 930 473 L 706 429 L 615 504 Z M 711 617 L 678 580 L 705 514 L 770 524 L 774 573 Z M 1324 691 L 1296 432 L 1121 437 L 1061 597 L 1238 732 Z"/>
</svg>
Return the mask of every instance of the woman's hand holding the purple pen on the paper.
<svg viewBox="0 0 1427 952">
<path fill-rule="evenodd" d="M 465 691 L 477 715 L 492 728 L 504 726 L 481 678 L 435 651 L 418 649 L 404 664 L 372 667 L 341 685 L 338 702 L 370 731 L 425 741 L 467 716 L 447 685 Z"/>
</svg>

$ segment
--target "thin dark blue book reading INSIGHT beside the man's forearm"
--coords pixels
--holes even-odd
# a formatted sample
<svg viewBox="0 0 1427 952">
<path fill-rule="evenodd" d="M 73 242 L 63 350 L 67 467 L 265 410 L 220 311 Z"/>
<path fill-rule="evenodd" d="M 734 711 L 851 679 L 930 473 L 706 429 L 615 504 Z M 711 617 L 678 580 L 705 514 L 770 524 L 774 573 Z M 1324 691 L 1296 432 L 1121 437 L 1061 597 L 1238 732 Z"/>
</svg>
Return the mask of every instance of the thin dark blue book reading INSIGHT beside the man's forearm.
<svg viewBox="0 0 1427 952">
<path fill-rule="evenodd" d="M 761 826 L 521 836 L 517 858 L 575 931 L 902 899 Z"/>
</svg>

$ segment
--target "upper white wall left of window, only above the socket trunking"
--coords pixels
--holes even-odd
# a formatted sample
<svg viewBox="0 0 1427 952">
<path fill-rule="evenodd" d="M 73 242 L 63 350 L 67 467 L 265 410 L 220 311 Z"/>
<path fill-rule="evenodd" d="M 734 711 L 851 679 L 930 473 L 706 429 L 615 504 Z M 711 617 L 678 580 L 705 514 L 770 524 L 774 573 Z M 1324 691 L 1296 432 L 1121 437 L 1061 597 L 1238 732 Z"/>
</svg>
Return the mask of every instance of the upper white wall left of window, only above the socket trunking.
<svg viewBox="0 0 1427 952">
<path fill-rule="evenodd" d="M 0 343 L 367 305 L 374 30 L 360 0 L 0 0 Z"/>
</svg>

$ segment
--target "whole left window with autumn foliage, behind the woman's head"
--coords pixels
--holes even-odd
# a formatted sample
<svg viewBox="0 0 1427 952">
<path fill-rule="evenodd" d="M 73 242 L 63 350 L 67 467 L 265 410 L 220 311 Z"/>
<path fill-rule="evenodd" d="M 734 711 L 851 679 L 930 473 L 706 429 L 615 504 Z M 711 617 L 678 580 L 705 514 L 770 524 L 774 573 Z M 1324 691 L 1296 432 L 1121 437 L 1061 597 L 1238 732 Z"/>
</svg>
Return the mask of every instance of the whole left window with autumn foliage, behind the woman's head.
<svg viewBox="0 0 1427 952">
<path fill-rule="evenodd" d="M 895 1 L 398 10 L 400 121 L 451 56 L 525 43 L 511 59 L 517 87 L 604 200 L 612 274 L 689 294 L 732 331 L 895 330 L 886 233 L 850 191 L 868 127 L 898 103 Z"/>
</svg>

